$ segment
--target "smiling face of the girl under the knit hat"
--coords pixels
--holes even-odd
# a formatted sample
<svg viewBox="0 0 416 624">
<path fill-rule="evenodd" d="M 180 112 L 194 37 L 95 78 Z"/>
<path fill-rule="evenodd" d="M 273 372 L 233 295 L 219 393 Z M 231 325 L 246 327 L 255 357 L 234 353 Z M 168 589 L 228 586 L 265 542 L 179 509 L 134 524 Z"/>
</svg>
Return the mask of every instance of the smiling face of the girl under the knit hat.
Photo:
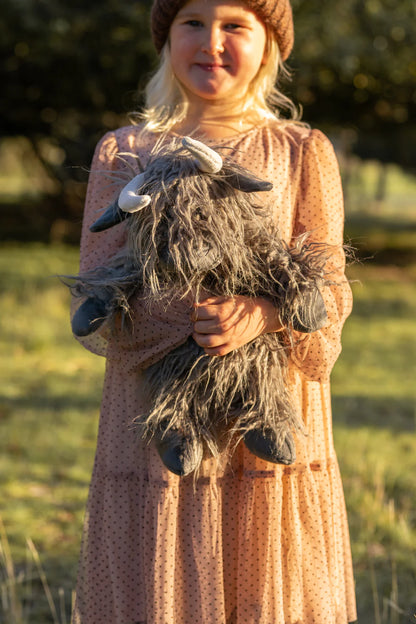
<svg viewBox="0 0 416 624">
<path fill-rule="evenodd" d="M 191 103 L 241 102 L 264 62 L 266 28 L 239 0 L 190 0 L 170 29 L 172 69 Z"/>
</svg>

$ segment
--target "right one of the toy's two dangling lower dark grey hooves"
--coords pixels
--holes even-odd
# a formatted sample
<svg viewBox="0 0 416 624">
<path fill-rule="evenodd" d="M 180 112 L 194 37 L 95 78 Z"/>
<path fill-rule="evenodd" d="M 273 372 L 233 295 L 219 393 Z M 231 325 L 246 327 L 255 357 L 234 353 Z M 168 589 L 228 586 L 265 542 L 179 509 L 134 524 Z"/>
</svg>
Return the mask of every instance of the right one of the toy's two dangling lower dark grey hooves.
<svg viewBox="0 0 416 624">
<path fill-rule="evenodd" d="M 252 429 L 244 435 L 244 444 L 256 457 L 272 464 L 293 464 L 296 459 L 296 447 L 290 432 L 284 436 L 281 444 L 272 429 Z"/>
</svg>

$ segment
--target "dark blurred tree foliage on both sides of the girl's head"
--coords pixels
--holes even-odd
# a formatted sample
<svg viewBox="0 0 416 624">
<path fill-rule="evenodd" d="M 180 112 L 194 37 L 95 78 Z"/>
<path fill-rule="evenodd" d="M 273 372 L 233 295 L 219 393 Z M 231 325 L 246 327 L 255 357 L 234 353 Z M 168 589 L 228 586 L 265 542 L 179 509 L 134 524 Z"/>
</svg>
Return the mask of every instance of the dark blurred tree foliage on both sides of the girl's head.
<svg viewBox="0 0 416 624">
<path fill-rule="evenodd" d="M 0 132 L 30 138 L 54 175 L 89 161 L 124 121 L 156 61 L 151 0 L 3 0 Z M 416 112 L 413 0 L 293 0 L 294 98 L 314 125 L 351 126 L 409 144 Z M 140 99 L 140 98 L 139 98 Z M 51 149 L 50 143 L 52 142 Z M 49 149 L 48 149 L 49 146 Z M 410 166 L 410 148 L 383 158 Z"/>
</svg>

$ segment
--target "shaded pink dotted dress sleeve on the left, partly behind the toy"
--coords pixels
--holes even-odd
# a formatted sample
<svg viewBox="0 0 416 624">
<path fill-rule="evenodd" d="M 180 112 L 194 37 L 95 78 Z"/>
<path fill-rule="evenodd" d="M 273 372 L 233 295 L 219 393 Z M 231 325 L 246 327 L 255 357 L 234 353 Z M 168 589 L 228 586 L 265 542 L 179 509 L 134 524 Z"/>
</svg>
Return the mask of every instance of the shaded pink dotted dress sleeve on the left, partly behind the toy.
<svg viewBox="0 0 416 624">
<path fill-rule="evenodd" d="M 123 181 L 123 161 L 117 135 L 107 133 L 98 143 L 91 165 L 85 201 L 80 245 L 80 272 L 106 266 L 127 242 L 126 224 L 120 223 L 103 232 L 91 232 L 90 226 L 118 196 Z M 71 317 L 82 300 L 73 297 Z M 89 351 L 123 362 L 124 369 L 146 368 L 184 342 L 192 332 L 189 302 L 173 301 L 168 308 L 149 310 L 139 297 L 130 302 L 131 323 L 110 331 L 104 323 L 85 337 L 76 337 Z"/>
</svg>

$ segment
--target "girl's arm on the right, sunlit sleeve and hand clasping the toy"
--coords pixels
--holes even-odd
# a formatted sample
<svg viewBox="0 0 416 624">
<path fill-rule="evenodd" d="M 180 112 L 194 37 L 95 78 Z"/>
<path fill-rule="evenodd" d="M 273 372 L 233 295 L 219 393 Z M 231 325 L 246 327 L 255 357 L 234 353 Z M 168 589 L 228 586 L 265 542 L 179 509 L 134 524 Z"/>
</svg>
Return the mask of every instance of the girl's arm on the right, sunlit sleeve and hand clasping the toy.
<svg viewBox="0 0 416 624">
<path fill-rule="evenodd" d="M 310 240 L 330 246 L 326 270 L 333 282 L 323 291 L 327 325 L 313 334 L 296 333 L 292 360 L 311 380 L 324 381 L 341 351 L 341 329 L 351 311 L 351 290 L 345 277 L 344 208 L 338 163 L 330 141 L 312 131 L 303 145 L 303 164 L 294 237 L 310 232 Z M 265 299 L 211 297 L 191 315 L 195 341 L 209 355 L 225 355 L 265 332 L 283 329 L 277 310 Z"/>
</svg>

